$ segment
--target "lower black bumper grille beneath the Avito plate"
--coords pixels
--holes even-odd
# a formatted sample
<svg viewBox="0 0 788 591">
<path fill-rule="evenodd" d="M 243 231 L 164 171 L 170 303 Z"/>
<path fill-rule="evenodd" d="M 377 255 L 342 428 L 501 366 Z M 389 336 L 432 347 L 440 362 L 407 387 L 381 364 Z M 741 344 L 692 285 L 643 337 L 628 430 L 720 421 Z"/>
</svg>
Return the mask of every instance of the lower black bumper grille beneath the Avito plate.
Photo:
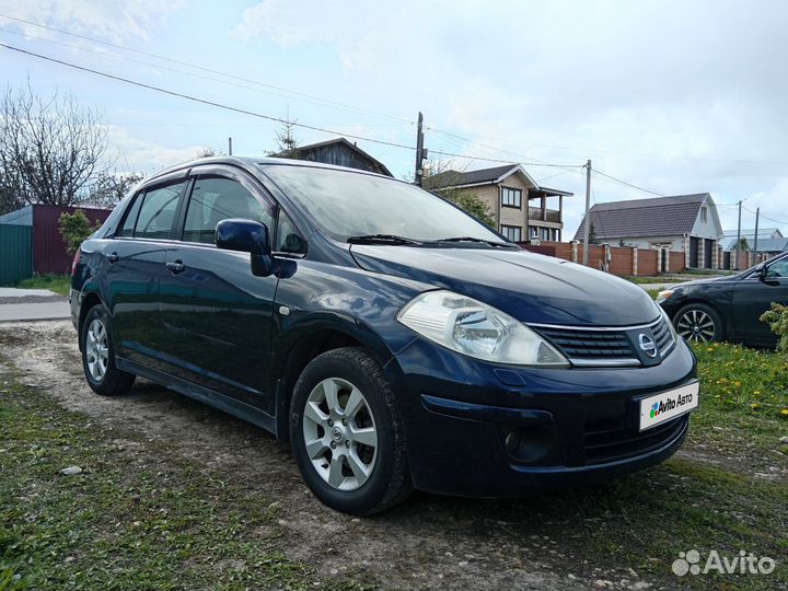
<svg viewBox="0 0 788 591">
<path fill-rule="evenodd" d="M 646 431 L 622 428 L 598 421 L 586 424 L 586 464 L 602 464 L 626 460 L 661 448 L 677 438 L 688 421 L 688 415 L 668 420 Z"/>
</svg>

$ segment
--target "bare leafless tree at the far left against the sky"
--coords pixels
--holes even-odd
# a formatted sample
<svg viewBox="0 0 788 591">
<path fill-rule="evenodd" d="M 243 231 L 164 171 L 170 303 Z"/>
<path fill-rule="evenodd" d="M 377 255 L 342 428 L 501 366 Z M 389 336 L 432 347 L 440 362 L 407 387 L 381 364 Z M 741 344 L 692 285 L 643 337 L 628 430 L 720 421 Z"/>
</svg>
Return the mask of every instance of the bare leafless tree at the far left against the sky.
<svg viewBox="0 0 788 591">
<path fill-rule="evenodd" d="M 4 190 L 26 204 L 71 205 L 105 172 L 107 132 L 71 95 L 37 96 L 27 84 L 0 96 L 0 170 Z"/>
</svg>

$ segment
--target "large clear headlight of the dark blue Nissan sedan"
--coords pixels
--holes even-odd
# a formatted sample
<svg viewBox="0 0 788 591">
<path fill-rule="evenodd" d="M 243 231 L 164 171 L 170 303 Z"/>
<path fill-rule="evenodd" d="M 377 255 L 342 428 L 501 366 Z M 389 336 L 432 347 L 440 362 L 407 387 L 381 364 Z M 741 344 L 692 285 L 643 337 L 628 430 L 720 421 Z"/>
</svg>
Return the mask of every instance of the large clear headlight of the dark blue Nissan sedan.
<svg viewBox="0 0 788 591">
<path fill-rule="evenodd" d="M 451 291 L 417 296 L 397 320 L 433 343 L 476 359 L 517 366 L 569 366 L 561 354 L 521 322 Z"/>
</svg>

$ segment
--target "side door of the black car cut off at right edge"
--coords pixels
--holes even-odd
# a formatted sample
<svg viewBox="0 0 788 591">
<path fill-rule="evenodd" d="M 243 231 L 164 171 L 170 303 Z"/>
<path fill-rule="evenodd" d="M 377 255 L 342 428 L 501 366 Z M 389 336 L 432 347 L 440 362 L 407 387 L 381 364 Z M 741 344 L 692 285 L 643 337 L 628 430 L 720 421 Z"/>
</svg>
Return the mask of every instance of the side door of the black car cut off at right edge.
<svg viewBox="0 0 788 591">
<path fill-rule="evenodd" d="M 737 338 L 758 343 L 777 338 L 761 321 L 772 302 L 788 303 L 788 256 L 767 262 L 763 278 L 755 271 L 733 288 L 731 318 Z"/>
</svg>

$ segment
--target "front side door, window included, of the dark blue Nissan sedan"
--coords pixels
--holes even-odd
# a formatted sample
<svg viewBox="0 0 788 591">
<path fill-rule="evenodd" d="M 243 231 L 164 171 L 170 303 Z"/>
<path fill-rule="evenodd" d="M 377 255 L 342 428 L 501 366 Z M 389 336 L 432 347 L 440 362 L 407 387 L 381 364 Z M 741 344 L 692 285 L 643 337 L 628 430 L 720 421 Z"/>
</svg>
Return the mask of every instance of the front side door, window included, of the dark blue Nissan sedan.
<svg viewBox="0 0 788 591">
<path fill-rule="evenodd" d="M 215 234 L 228 218 L 273 233 L 275 204 L 229 166 L 195 170 L 193 178 L 161 283 L 164 359 L 182 379 L 273 412 L 265 379 L 277 277 L 254 276 L 250 254 L 217 248 Z"/>
</svg>

